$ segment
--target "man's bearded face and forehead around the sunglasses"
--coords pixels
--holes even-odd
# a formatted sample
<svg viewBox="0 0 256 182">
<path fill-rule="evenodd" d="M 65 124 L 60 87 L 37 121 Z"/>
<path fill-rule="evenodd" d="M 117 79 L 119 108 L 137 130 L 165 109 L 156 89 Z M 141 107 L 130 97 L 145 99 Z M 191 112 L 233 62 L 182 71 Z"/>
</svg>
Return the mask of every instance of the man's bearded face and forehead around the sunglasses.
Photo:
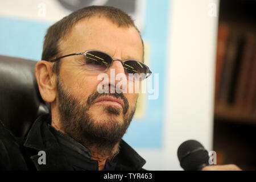
<svg viewBox="0 0 256 182">
<path fill-rule="evenodd" d="M 115 59 L 143 60 L 143 46 L 137 30 L 118 27 L 102 17 L 80 20 L 60 44 L 61 55 L 89 49 L 106 52 Z M 119 61 L 114 61 L 110 69 L 115 70 L 115 75 L 124 73 Z M 109 76 L 109 88 L 115 86 L 110 85 L 110 69 L 105 72 Z M 129 126 L 138 94 L 98 93 L 97 86 L 102 82 L 97 79 L 99 74 L 86 67 L 82 55 L 61 59 L 57 106 L 63 130 L 71 137 L 94 142 L 108 138 L 105 144 L 110 144 L 118 142 Z M 133 82 L 123 85 L 123 89 L 130 87 L 134 87 Z"/>
</svg>

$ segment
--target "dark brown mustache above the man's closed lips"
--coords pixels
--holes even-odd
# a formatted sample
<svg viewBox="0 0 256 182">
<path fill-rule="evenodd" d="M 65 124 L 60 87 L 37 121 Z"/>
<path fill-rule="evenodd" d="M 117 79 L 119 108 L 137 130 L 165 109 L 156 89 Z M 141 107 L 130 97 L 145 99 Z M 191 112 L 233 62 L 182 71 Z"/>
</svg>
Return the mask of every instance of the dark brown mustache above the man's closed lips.
<svg viewBox="0 0 256 182">
<path fill-rule="evenodd" d="M 92 94 L 90 94 L 90 96 L 88 97 L 86 101 L 87 105 L 91 106 L 97 98 L 102 96 L 112 96 L 112 97 L 121 99 L 124 104 L 123 114 L 127 113 L 129 109 L 129 102 L 123 93 L 98 93 L 97 91 L 95 91 Z"/>
</svg>

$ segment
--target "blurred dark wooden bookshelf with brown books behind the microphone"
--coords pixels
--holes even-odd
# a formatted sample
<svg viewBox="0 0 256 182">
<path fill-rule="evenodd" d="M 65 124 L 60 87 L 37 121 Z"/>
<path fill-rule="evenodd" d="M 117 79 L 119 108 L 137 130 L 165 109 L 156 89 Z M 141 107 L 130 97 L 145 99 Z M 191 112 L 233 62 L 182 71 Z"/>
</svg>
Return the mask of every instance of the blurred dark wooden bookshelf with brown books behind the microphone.
<svg viewBox="0 0 256 182">
<path fill-rule="evenodd" d="M 256 1 L 220 0 L 218 22 L 213 150 L 217 164 L 255 170 Z"/>
</svg>

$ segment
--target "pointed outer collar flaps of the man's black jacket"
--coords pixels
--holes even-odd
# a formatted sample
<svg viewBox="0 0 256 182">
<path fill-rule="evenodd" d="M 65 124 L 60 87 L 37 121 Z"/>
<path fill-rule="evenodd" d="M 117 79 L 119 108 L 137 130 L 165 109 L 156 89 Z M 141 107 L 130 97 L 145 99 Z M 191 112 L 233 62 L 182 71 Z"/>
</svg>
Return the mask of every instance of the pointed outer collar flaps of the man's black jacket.
<svg viewBox="0 0 256 182">
<path fill-rule="evenodd" d="M 49 114 L 40 115 L 29 131 L 24 147 L 33 148 L 36 151 L 46 152 L 46 164 L 38 164 L 40 156 L 31 156 L 31 160 L 38 170 L 73 170 L 68 163 L 55 135 L 49 130 L 47 123 L 51 122 Z M 146 160 L 144 160 L 133 148 L 124 140 L 120 142 L 120 151 L 112 159 L 117 163 L 117 170 L 140 170 Z"/>
</svg>

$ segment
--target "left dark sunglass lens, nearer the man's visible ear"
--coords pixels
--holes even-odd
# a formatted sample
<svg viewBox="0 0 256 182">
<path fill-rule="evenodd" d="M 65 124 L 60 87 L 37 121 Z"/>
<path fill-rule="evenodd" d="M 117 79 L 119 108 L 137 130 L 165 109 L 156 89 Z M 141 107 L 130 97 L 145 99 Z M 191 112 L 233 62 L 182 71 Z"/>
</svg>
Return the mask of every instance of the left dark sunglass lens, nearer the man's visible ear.
<svg viewBox="0 0 256 182">
<path fill-rule="evenodd" d="M 105 71 L 110 67 L 112 58 L 104 52 L 89 51 L 85 54 L 85 64 L 88 68 Z"/>
</svg>

